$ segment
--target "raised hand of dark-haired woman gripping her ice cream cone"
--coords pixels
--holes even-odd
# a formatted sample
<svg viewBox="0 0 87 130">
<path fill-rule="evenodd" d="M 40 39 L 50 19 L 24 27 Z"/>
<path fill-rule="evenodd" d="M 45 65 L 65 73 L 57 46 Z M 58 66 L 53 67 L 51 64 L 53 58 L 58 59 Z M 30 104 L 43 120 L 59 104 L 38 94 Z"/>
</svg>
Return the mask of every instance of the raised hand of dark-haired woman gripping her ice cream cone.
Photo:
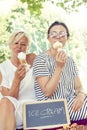
<svg viewBox="0 0 87 130">
<path fill-rule="evenodd" d="M 64 51 L 64 49 L 60 49 L 58 50 L 58 53 L 56 55 L 56 61 L 57 61 L 57 65 L 58 67 L 60 68 L 63 68 L 65 63 L 66 63 L 66 58 L 67 58 L 67 55 L 66 55 L 66 52 Z"/>
</svg>

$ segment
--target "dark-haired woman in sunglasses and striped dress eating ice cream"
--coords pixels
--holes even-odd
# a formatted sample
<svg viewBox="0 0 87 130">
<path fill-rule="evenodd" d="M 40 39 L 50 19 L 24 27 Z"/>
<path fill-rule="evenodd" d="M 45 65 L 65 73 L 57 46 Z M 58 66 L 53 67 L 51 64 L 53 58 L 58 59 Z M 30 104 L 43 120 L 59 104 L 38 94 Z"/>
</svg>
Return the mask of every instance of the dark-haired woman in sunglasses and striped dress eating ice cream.
<svg viewBox="0 0 87 130">
<path fill-rule="evenodd" d="M 64 46 L 69 38 L 68 27 L 55 21 L 48 29 L 50 48 L 34 61 L 35 93 L 37 100 L 65 98 L 70 120 L 87 118 L 87 96 L 73 58 L 67 56 Z M 55 49 L 55 43 L 61 44 Z"/>
</svg>

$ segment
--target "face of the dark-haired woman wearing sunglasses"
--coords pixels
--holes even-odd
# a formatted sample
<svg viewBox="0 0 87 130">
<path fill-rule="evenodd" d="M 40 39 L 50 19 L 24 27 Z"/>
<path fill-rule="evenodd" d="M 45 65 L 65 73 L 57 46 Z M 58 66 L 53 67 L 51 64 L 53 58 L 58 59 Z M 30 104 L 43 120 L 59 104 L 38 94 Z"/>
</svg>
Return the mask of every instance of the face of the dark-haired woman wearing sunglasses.
<svg viewBox="0 0 87 130">
<path fill-rule="evenodd" d="M 48 40 L 51 43 L 51 46 L 57 41 L 61 42 L 63 46 L 67 41 L 67 31 L 66 28 L 62 25 L 54 25 L 50 28 L 50 32 L 48 34 Z"/>
</svg>

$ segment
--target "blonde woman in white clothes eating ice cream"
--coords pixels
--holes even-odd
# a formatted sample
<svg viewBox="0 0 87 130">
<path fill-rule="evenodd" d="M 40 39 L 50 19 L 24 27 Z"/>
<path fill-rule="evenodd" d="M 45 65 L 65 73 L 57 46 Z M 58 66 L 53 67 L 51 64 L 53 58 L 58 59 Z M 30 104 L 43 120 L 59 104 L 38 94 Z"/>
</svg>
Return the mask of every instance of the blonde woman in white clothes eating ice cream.
<svg viewBox="0 0 87 130">
<path fill-rule="evenodd" d="M 26 53 L 30 44 L 29 38 L 23 31 L 15 32 L 9 39 L 11 58 L 0 64 L 0 130 L 15 130 L 23 128 L 22 105 L 25 101 L 35 101 L 32 62 L 35 54 L 27 56 L 30 69 L 26 64 L 20 64 L 18 54 Z M 29 60 L 30 59 L 30 60 Z"/>
</svg>

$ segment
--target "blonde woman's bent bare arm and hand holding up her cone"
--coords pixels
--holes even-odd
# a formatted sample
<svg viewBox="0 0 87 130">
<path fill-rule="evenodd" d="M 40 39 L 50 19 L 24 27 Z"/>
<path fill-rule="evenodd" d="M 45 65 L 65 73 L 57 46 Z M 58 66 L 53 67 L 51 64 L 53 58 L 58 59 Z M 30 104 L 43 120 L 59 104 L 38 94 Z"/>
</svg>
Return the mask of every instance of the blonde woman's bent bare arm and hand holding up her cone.
<svg viewBox="0 0 87 130">
<path fill-rule="evenodd" d="M 18 98 L 19 88 L 21 80 L 25 77 L 26 68 L 24 65 L 20 65 L 15 72 L 15 76 L 11 85 L 11 89 L 8 89 L 6 86 L 2 86 L 1 93 L 3 96 L 12 96 Z"/>
</svg>

